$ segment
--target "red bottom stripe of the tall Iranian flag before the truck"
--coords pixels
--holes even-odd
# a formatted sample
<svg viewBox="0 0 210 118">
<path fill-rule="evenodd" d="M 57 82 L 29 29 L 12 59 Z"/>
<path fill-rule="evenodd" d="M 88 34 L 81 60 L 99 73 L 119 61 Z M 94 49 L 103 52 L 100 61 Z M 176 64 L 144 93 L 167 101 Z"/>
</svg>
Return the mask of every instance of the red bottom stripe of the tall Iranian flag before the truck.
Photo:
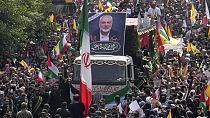
<svg viewBox="0 0 210 118">
<path fill-rule="evenodd" d="M 84 97 L 85 96 L 85 97 Z M 80 82 L 80 101 L 85 106 L 84 115 L 87 116 L 89 113 L 89 107 L 91 105 L 92 94 L 91 91 L 88 90 L 87 85 Z"/>
</svg>

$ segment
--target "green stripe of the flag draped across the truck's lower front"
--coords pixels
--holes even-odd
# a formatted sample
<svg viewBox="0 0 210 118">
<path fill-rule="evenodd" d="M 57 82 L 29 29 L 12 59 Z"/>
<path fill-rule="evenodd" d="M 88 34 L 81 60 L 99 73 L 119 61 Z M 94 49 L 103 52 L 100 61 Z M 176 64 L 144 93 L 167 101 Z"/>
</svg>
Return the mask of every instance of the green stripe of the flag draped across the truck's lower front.
<svg viewBox="0 0 210 118">
<path fill-rule="evenodd" d="M 105 97 L 105 103 L 108 104 L 108 103 L 111 103 L 112 101 L 114 101 L 114 98 L 116 95 L 119 95 L 120 97 L 124 96 L 126 93 L 128 93 L 129 88 L 130 87 L 127 85 L 123 89 L 121 89 L 117 92 L 114 92 L 111 95 Z"/>
</svg>

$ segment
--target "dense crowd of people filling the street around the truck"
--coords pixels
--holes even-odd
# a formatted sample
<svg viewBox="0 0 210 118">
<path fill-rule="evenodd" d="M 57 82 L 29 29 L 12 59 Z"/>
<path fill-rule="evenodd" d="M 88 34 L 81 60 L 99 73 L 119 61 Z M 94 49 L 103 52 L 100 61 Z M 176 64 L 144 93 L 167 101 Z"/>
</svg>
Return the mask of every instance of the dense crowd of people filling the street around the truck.
<svg viewBox="0 0 210 118">
<path fill-rule="evenodd" d="M 107 105 L 104 98 L 94 102 L 96 104 L 91 105 L 88 117 L 210 118 L 210 96 L 206 93 L 210 84 L 208 27 L 203 25 L 202 19 L 199 18 L 194 26 L 191 21 L 188 22 L 187 11 L 190 5 L 191 3 L 185 0 L 169 0 L 164 6 L 156 6 L 154 1 L 132 4 L 128 0 L 121 2 L 119 6 L 113 5 L 113 12 L 127 12 L 128 17 L 140 15 L 143 18 L 145 14 L 151 19 L 157 17 L 159 22 L 169 24 L 174 37 L 182 38 L 185 45 L 182 54 L 173 49 L 161 54 L 160 64 L 152 73 L 152 81 L 145 82 L 141 89 L 131 86 L 125 96 L 115 96 L 112 105 Z M 200 11 L 198 13 L 201 16 L 203 9 L 200 9 L 198 2 L 195 2 L 195 8 Z M 93 5 L 89 11 L 100 10 L 97 5 Z M 79 36 L 73 26 L 73 20 L 78 19 L 79 13 L 80 8 L 77 8 L 73 16 L 54 14 L 56 17 L 51 20 L 56 32 L 52 34 L 52 40 L 30 42 L 23 51 L 17 51 L 1 64 L 4 65 L 0 72 L 1 118 L 84 117 L 84 105 L 80 103 L 79 94 L 73 95 L 70 92 L 73 89 L 72 62 L 79 56 L 79 52 L 76 51 L 79 47 Z M 45 77 L 44 82 L 37 81 L 40 69 L 47 73 L 47 54 L 60 40 L 63 32 L 70 35 L 67 41 L 71 44 L 71 49 L 62 59 L 51 56 L 53 62 L 60 65 L 58 78 Z M 188 44 L 197 47 L 196 51 L 188 47 Z M 27 67 L 19 63 L 21 60 L 26 60 Z M 139 105 L 134 111 L 129 107 L 133 102 Z"/>
</svg>

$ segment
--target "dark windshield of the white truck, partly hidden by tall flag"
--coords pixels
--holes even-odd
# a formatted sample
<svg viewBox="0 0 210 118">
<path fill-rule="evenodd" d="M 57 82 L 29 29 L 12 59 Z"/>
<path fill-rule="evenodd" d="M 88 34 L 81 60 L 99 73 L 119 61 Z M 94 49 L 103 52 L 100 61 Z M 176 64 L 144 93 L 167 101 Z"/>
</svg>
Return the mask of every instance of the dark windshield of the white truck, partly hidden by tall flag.
<svg viewBox="0 0 210 118">
<path fill-rule="evenodd" d="M 126 82 L 125 66 L 119 66 L 117 64 L 92 64 L 91 69 L 93 84 L 122 84 Z M 80 65 L 74 65 L 73 81 L 80 81 Z"/>
</svg>

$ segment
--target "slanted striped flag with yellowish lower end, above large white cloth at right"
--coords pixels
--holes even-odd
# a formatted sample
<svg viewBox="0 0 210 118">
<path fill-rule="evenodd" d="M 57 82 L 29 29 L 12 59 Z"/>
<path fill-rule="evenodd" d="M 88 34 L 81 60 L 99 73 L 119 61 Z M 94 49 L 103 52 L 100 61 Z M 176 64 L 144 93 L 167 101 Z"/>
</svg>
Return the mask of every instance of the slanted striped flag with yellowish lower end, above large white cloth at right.
<svg viewBox="0 0 210 118">
<path fill-rule="evenodd" d="M 170 39 L 169 39 L 165 29 L 163 28 L 163 26 L 161 24 L 159 25 L 159 33 L 160 33 L 162 43 L 163 44 L 169 44 Z"/>
</svg>

